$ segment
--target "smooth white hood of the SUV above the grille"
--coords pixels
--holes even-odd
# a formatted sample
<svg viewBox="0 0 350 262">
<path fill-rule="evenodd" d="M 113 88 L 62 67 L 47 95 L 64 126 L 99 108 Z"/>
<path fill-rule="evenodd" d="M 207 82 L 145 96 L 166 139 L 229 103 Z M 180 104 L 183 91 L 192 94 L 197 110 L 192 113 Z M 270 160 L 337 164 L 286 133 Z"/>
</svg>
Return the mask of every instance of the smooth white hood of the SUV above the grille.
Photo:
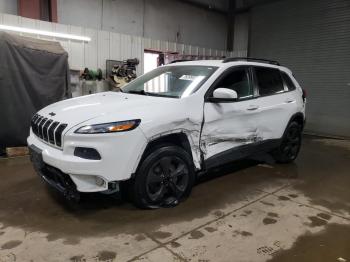
<svg viewBox="0 0 350 262">
<path fill-rule="evenodd" d="M 104 92 L 63 100 L 49 105 L 39 115 L 68 124 L 68 127 L 101 117 L 109 121 L 138 119 L 163 104 L 176 103 L 180 99 L 152 97 L 121 92 Z M 153 108 L 150 108 L 153 107 Z M 106 120 L 105 120 L 106 121 Z M 98 123 L 102 123 L 97 121 Z"/>
</svg>

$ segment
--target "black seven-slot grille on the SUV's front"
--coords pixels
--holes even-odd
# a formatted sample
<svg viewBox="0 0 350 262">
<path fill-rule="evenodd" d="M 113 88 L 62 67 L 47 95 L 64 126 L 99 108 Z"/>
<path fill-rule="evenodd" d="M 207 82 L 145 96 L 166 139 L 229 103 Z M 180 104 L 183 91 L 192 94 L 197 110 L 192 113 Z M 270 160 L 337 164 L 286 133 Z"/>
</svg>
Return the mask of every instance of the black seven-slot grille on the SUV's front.
<svg viewBox="0 0 350 262">
<path fill-rule="evenodd" d="M 67 124 L 35 114 L 31 121 L 31 127 L 37 137 L 40 137 L 47 143 L 62 147 L 62 133 Z"/>
</svg>

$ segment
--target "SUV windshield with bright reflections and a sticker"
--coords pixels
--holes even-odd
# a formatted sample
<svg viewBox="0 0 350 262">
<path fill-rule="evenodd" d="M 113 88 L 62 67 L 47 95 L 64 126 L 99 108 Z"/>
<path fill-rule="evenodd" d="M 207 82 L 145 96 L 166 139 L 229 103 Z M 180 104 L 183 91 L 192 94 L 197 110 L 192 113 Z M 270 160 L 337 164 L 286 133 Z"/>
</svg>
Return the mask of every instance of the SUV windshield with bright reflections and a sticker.
<svg viewBox="0 0 350 262">
<path fill-rule="evenodd" d="M 165 66 L 148 72 L 122 87 L 122 92 L 181 98 L 196 92 L 217 67 Z"/>
</svg>

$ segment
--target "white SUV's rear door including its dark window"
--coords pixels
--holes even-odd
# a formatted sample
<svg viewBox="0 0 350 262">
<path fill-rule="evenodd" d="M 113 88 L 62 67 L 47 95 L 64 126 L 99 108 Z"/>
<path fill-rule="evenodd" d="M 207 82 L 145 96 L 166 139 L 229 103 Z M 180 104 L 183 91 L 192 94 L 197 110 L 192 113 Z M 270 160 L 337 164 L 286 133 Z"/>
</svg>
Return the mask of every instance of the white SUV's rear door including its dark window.
<svg viewBox="0 0 350 262">
<path fill-rule="evenodd" d="M 288 87 L 286 73 L 277 68 L 255 66 L 253 77 L 258 90 L 256 105 L 261 115 L 257 119 L 259 137 L 262 140 L 279 139 L 297 112 L 295 86 Z"/>
</svg>

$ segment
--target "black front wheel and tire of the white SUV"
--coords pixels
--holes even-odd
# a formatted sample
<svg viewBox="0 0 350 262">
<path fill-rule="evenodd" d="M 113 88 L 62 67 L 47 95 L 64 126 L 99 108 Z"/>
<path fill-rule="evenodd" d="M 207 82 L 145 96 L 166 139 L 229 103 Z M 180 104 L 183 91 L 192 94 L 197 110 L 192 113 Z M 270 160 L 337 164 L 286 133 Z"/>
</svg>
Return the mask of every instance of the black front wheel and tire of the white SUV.
<svg viewBox="0 0 350 262">
<path fill-rule="evenodd" d="M 140 208 L 172 207 L 189 196 L 194 181 L 192 157 L 181 147 L 163 145 L 142 160 L 129 192 Z"/>
</svg>

